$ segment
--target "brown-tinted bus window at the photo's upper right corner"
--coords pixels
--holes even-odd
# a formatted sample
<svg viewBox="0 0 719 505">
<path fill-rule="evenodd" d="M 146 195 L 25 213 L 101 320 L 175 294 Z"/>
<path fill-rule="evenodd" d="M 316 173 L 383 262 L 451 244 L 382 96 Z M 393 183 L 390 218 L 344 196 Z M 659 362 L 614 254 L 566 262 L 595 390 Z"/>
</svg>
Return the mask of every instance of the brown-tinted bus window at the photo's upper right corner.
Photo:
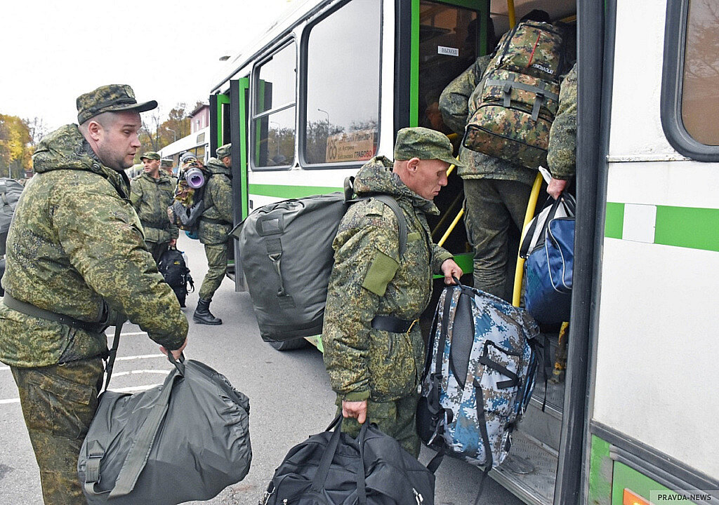
<svg viewBox="0 0 719 505">
<path fill-rule="evenodd" d="M 719 146 L 719 11 L 690 0 L 682 79 L 682 122 L 697 142 Z"/>
</svg>

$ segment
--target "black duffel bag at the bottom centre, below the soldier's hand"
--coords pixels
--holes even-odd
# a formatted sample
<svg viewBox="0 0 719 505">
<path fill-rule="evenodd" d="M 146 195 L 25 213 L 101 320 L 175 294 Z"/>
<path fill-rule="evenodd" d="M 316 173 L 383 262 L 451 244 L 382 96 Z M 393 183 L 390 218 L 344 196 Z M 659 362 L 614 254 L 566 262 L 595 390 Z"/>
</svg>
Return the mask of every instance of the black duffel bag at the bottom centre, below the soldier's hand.
<svg viewBox="0 0 719 505">
<path fill-rule="evenodd" d="M 369 422 L 357 440 L 341 430 L 340 414 L 290 449 L 261 505 L 434 504 L 434 473 L 397 440 Z"/>
</svg>

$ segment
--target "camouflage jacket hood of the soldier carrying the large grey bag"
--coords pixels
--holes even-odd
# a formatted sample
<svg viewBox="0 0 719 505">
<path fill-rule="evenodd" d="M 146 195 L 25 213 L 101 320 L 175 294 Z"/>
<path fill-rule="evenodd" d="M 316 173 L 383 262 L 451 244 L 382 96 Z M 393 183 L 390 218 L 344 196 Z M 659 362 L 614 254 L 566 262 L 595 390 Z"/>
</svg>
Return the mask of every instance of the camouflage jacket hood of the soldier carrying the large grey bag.
<svg viewBox="0 0 719 505">
<path fill-rule="evenodd" d="M 439 215 L 439 209 L 431 200 L 422 198 L 402 182 L 399 175 L 392 171 L 393 162 L 384 156 L 377 156 L 359 169 L 354 176 L 354 193 L 369 196 L 382 193 L 397 200 L 405 200 L 423 213 Z"/>
</svg>

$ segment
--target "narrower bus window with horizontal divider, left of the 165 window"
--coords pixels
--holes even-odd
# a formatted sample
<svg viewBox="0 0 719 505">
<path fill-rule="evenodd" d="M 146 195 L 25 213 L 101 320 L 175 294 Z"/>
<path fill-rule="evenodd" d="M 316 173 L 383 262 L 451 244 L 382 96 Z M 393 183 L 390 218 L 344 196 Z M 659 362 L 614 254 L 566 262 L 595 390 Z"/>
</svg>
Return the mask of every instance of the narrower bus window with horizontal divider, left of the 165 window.
<svg viewBox="0 0 719 505">
<path fill-rule="evenodd" d="M 295 76 L 294 42 L 255 69 L 254 168 L 295 163 Z"/>
</svg>

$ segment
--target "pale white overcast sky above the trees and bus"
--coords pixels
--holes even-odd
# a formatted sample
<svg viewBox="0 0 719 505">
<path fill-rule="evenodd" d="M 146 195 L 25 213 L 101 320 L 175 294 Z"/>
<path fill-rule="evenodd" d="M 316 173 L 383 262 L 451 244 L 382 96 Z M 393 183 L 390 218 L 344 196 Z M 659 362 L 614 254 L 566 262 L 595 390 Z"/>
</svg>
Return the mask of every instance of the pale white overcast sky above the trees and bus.
<svg viewBox="0 0 719 505">
<path fill-rule="evenodd" d="M 207 101 L 237 55 L 300 0 L 17 0 L 0 17 L 0 113 L 41 118 L 47 131 L 77 122 L 75 98 L 129 84 L 157 100 Z"/>
</svg>

